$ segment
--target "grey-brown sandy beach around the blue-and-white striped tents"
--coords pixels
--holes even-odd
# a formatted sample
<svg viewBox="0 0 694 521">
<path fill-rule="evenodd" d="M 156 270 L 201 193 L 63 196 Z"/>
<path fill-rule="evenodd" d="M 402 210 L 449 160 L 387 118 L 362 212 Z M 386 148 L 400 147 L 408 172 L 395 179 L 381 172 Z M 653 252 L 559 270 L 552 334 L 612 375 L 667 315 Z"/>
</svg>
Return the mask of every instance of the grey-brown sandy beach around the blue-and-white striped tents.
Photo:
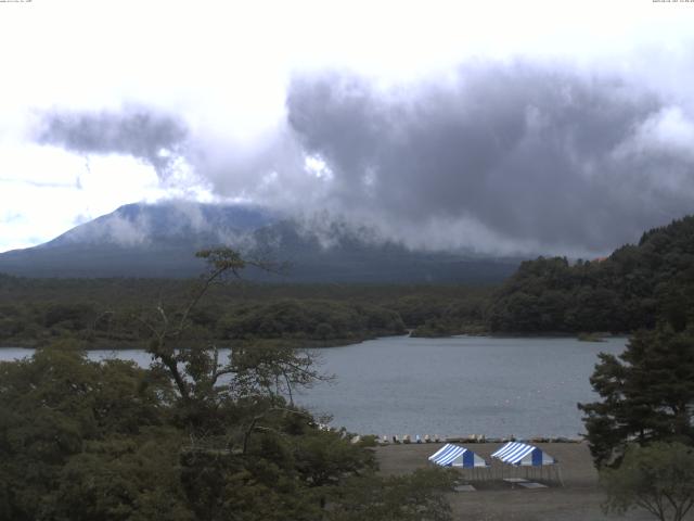
<svg viewBox="0 0 694 521">
<path fill-rule="evenodd" d="M 461 481 L 473 484 L 474 492 L 449 494 L 455 520 L 484 521 L 603 521 L 628 519 L 652 520 L 648 512 L 633 510 L 625 517 L 606 516 L 601 509 L 605 496 L 597 484 L 597 472 L 593 468 L 588 446 L 584 443 L 538 443 L 560 461 L 562 484 L 554 473 L 539 479 L 537 472 L 528 474 L 529 481 L 547 484 L 547 488 L 526 490 L 501 480 L 503 463 L 491 460 L 490 454 L 499 443 L 460 444 L 474 450 L 491 462 L 494 479 L 485 480 L 481 472 L 473 478 L 470 471 L 461 471 Z M 376 457 L 384 474 L 402 474 L 430 465 L 428 456 L 442 446 L 441 443 L 385 445 L 377 447 Z M 525 478 L 525 471 L 503 469 L 504 476 Z M 694 519 L 689 517 L 687 519 Z"/>
</svg>

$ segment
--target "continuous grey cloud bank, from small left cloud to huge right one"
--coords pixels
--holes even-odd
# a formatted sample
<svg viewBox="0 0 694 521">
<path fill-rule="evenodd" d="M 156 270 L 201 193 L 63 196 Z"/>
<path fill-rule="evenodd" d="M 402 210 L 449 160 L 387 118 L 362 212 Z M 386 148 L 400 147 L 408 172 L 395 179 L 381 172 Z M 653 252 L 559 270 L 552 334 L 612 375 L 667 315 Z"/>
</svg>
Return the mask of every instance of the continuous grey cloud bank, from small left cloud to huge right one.
<svg viewBox="0 0 694 521">
<path fill-rule="evenodd" d="M 599 255 L 694 198 L 689 100 L 565 64 L 467 62 L 385 87 L 297 75 L 284 119 L 243 144 L 144 105 L 52 111 L 35 140 L 130 154 L 164 182 L 329 215 L 415 250 Z"/>
</svg>

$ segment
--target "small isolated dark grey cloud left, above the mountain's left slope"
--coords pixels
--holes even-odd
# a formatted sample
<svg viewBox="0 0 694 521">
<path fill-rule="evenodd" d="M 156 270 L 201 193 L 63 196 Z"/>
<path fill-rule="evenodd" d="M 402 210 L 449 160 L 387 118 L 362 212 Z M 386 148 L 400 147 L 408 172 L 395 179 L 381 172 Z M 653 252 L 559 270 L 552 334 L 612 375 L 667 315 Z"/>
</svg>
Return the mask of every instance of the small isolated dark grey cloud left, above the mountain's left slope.
<svg viewBox="0 0 694 521">
<path fill-rule="evenodd" d="M 81 154 L 128 154 L 166 178 L 187 134 L 180 119 L 146 109 L 53 112 L 43 114 L 36 140 Z"/>
</svg>

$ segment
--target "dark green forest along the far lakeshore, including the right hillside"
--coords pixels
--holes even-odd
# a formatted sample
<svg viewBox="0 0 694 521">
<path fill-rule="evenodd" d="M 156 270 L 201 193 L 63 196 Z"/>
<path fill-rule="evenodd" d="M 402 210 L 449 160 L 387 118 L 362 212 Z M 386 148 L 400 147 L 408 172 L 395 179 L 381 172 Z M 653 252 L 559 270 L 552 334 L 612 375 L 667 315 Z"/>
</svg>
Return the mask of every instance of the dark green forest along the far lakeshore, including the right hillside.
<svg viewBox="0 0 694 521">
<path fill-rule="evenodd" d="M 0 345 L 72 339 L 139 346 L 136 319 L 176 307 L 195 280 L 29 279 L 0 275 Z M 280 284 L 233 279 L 209 291 L 188 338 L 327 346 L 404 334 L 628 334 L 692 323 L 694 217 L 643 234 L 605 258 L 524 262 L 501 285 Z"/>
</svg>

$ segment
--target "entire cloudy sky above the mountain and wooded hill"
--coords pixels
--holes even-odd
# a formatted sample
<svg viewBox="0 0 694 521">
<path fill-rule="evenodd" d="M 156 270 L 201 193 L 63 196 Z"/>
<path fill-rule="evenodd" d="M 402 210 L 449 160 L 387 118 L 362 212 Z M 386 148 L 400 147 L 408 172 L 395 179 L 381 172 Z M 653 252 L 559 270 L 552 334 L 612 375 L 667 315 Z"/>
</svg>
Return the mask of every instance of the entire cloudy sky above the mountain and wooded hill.
<svg viewBox="0 0 694 521">
<path fill-rule="evenodd" d="M 0 252 L 133 202 L 599 256 L 694 209 L 694 2 L 0 1 Z"/>
</svg>

